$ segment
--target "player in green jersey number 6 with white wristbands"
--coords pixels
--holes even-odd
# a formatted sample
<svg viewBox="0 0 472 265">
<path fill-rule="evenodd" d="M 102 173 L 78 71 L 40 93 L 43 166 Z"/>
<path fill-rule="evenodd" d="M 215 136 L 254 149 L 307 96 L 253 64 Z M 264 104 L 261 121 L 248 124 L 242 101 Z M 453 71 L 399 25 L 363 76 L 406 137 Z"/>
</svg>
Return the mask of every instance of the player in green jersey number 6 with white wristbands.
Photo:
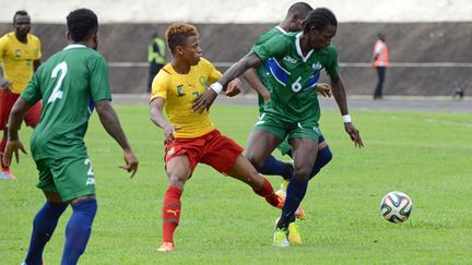
<svg viewBox="0 0 472 265">
<path fill-rule="evenodd" d="M 255 125 L 248 141 L 247 157 L 260 169 L 267 157 L 288 137 L 293 150 L 294 173 L 286 192 L 282 215 L 276 221 L 273 244 L 288 246 L 287 227 L 295 220 L 295 210 L 303 201 L 310 170 L 318 150 L 320 107 L 317 86 L 324 69 L 331 79 L 332 94 L 340 108 L 344 129 L 356 147 L 363 147 L 359 131 L 354 127 L 347 109 L 346 94 L 339 74 L 338 52 L 331 44 L 338 20 L 326 8 L 311 11 L 302 24 L 302 33 L 279 35 L 256 46 L 251 52 L 232 65 L 192 106 L 194 111 L 209 109 L 223 85 L 247 69 L 262 63 L 269 68 L 271 100 Z"/>
</svg>

